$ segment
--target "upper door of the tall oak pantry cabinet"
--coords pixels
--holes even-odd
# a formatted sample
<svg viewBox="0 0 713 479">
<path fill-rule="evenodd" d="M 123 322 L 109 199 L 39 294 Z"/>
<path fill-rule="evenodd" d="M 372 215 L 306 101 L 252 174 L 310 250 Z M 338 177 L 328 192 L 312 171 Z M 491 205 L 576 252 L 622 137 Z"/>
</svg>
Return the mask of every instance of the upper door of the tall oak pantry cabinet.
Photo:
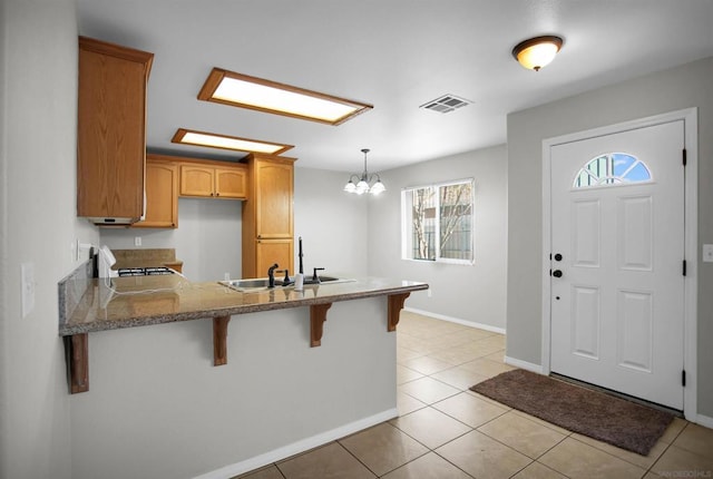
<svg viewBox="0 0 713 479">
<path fill-rule="evenodd" d="M 293 166 L 256 162 L 257 238 L 292 238 Z"/>
</svg>

